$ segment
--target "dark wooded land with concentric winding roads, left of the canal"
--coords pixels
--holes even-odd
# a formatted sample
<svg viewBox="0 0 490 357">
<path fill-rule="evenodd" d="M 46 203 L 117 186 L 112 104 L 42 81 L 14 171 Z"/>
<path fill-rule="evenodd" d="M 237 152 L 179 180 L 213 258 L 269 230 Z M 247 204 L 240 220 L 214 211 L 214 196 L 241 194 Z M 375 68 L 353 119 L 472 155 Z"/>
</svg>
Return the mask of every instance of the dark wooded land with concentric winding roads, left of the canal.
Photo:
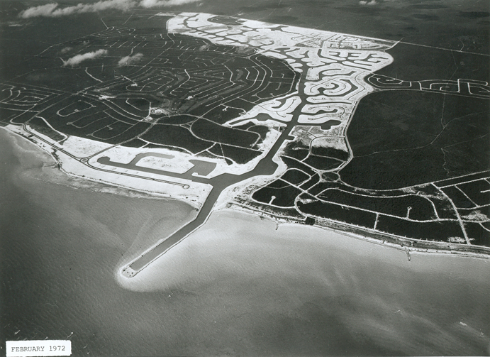
<svg viewBox="0 0 490 357">
<path fill-rule="evenodd" d="M 24 122 L 42 113 L 56 131 L 67 135 L 130 147 L 150 143 L 190 153 L 209 149 L 205 155 L 221 156 L 227 163 L 243 164 L 260 155 L 250 149 L 257 149 L 265 138 L 266 126 L 243 130 L 222 124 L 261 101 L 291 92 L 299 74 L 286 62 L 255 50 L 169 34 L 162 17 L 145 24 L 138 16 L 131 21 L 137 30 L 108 28 L 52 46 L 37 62 L 28 62 L 18 81 L 50 88 L 43 100 L 56 97 L 51 89 L 66 94 L 36 103 L 29 90 L 43 91 L 22 89 L 22 104 L 33 101 L 33 111 L 18 119 Z M 212 21 L 238 20 L 217 16 Z M 137 43 L 138 59 L 118 65 Z M 100 49 L 108 50 L 108 55 L 73 66 L 60 61 Z M 9 100 L 11 87 L 0 88 L 6 89 L 0 93 Z M 14 101 L 0 105 L 3 123 L 21 114 Z M 150 107 L 160 108 L 161 114 L 150 114 Z"/>
</svg>

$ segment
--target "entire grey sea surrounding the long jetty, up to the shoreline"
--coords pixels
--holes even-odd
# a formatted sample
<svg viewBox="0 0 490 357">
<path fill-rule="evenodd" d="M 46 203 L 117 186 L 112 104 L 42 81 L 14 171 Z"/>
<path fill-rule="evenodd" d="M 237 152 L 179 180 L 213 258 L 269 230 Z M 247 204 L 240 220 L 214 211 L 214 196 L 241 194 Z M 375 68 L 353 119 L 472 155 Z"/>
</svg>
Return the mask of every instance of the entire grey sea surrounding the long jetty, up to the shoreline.
<svg viewBox="0 0 490 357">
<path fill-rule="evenodd" d="M 2 340 L 68 338 L 74 356 L 490 352 L 489 260 L 408 261 L 223 211 L 128 280 L 118 268 L 194 210 L 77 188 L 18 140 L 0 131 Z"/>
</svg>

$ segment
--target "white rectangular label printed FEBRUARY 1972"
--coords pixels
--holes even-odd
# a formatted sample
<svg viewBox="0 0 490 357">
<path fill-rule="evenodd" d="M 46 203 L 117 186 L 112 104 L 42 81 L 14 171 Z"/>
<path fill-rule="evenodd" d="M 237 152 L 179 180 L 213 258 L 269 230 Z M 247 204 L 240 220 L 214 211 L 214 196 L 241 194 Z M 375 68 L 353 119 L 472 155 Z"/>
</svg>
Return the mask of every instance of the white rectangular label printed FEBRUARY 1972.
<svg viewBox="0 0 490 357">
<path fill-rule="evenodd" d="M 69 340 L 6 341 L 5 345 L 7 357 L 72 355 Z"/>
</svg>

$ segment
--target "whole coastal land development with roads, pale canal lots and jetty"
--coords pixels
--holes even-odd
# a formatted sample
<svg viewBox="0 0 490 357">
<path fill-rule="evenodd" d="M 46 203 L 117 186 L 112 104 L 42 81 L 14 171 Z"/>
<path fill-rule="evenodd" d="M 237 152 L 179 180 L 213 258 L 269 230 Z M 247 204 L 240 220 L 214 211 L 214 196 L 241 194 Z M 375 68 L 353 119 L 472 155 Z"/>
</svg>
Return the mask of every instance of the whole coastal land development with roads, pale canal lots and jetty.
<svg viewBox="0 0 490 357">
<path fill-rule="evenodd" d="M 65 172 L 199 211 L 127 278 L 223 208 L 490 253 L 488 68 L 417 72 L 408 61 L 454 53 L 208 13 L 132 23 L 52 45 L 0 84 L 1 126 Z"/>
</svg>

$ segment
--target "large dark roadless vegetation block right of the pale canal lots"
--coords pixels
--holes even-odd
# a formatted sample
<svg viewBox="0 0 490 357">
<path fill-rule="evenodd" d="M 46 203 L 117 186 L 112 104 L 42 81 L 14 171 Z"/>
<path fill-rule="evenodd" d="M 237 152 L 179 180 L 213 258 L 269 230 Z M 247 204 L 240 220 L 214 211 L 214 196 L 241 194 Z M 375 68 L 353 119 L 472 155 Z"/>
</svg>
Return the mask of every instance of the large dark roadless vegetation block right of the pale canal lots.
<svg viewBox="0 0 490 357">
<path fill-rule="evenodd" d="M 480 146 L 490 148 L 489 115 L 485 99 L 403 90 L 369 94 L 347 131 L 354 158 L 340 175 L 356 187 L 386 190 L 488 170 L 489 149 Z M 476 139 L 481 145 L 467 144 Z"/>
</svg>

